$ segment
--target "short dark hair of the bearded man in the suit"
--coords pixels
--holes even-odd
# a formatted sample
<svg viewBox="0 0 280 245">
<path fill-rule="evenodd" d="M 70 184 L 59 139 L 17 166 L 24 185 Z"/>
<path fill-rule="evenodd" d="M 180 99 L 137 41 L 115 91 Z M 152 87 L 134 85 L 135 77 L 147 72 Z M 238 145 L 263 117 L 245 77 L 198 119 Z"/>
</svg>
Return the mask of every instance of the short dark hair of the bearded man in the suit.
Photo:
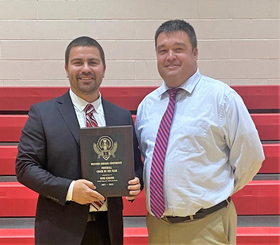
<svg viewBox="0 0 280 245">
<path fill-rule="evenodd" d="M 100 44 L 91 37 L 77 37 L 73 41 L 71 41 L 70 44 L 68 44 L 66 51 L 65 51 L 65 65 L 68 65 L 69 61 L 69 53 L 72 47 L 74 46 L 95 46 L 98 48 L 100 57 L 102 60 L 103 65 L 105 65 L 105 56 L 103 48 L 100 46 Z"/>
</svg>

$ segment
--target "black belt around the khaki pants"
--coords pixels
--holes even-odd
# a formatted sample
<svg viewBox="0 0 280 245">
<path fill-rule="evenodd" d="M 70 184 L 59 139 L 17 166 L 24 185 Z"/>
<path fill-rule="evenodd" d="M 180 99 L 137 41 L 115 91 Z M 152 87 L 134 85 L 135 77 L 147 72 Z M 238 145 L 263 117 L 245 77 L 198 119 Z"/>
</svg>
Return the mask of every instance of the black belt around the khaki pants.
<svg viewBox="0 0 280 245">
<path fill-rule="evenodd" d="M 227 201 L 230 202 L 230 197 L 227 198 L 227 200 L 221 201 L 220 203 L 216 204 L 213 207 L 210 208 L 200 208 L 194 215 L 192 215 L 193 219 L 200 219 L 204 218 L 207 214 L 213 213 L 215 211 L 218 211 L 221 208 L 224 208 L 227 206 Z M 192 219 L 190 216 L 180 217 L 180 216 L 164 216 L 167 218 L 167 220 L 171 223 L 179 223 L 183 222 L 185 220 Z"/>
</svg>

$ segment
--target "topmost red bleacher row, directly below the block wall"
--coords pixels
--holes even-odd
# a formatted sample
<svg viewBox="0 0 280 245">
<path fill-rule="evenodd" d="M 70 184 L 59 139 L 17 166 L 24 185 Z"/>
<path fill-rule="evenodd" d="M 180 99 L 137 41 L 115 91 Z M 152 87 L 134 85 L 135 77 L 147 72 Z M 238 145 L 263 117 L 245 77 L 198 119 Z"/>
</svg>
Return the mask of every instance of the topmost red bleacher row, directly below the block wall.
<svg viewBox="0 0 280 245">
<path fill-rule="evenodd" d="M 279 109 L 280 86 L 231 86 L 248 109 Z M 157 87 L 101 87 L 102 96 L 127 110 L 136 110 L 141 100 Z M 1 87 L 0 111 L 27 111 L 30 105 L 65 93 L 67 87 Z"/>
</svg>

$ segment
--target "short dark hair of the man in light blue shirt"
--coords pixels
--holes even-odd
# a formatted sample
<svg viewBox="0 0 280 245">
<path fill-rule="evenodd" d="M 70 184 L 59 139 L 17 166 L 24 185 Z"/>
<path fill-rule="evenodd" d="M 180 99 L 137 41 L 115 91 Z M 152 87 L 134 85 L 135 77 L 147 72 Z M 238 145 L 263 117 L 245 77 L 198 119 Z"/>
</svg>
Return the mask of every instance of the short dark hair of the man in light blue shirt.
<svg viewBox="0 0 280 245">
<path fill-rule="evenodd" d="M 190 43 L 192 44 L 192 50 L 197 47 L 195 30 L 188 22 L 185 22 L 184 20 L 167 20 L 166 22 L 162 23 L 155 32 L 155 48 L 157 48 L 157 37 L 161 32 L 170 33 L 175 31 L 186 32 L 190 39 Z"/>
</svg>

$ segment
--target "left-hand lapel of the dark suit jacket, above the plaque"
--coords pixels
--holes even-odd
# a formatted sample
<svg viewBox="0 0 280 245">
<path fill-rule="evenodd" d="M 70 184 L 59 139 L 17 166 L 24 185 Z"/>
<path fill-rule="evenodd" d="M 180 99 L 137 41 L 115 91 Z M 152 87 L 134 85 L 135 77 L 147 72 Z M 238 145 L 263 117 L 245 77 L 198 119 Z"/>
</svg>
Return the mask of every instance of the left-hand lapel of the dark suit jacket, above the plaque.
<svg viewBox="0 0 280 245">
<path fill-rule="evenodd" d="M 58 101 L 57 109 L 59 110 L 65 123 L 67 124 L 68 128 L 73 134 L 78 145 L 80 145 L 80 134 L 79 134 L 80 125 L 77 119 L 77 115 L 72 100 L 70 98 L 69 91 L 67 91 L 67 93 L 60 96 L 59 98 L 57 98 L 57 101 Z"/>
</svg>

